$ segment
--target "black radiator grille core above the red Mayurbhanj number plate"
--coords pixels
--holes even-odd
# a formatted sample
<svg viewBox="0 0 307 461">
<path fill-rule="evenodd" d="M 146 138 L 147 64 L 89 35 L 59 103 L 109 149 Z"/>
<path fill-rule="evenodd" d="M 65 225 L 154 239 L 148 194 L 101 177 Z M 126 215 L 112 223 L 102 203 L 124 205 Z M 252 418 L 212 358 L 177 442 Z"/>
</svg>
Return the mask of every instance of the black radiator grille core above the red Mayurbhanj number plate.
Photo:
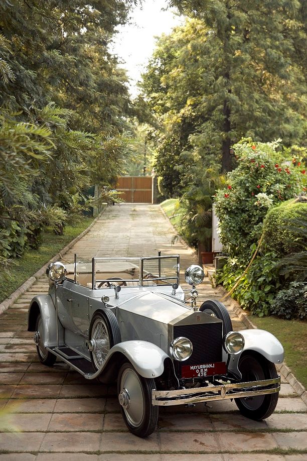
<svg viewBox="0 0 307 461">
<path fill-rule="evenodd" d="M 190 339 L 193 352 L 184 362 L 174 360 L 178 377 L 181 377 L 182 365 L 222 362 L 222 322 L 174 326 L 174 339 L 179 336 Z"/>
</svg>

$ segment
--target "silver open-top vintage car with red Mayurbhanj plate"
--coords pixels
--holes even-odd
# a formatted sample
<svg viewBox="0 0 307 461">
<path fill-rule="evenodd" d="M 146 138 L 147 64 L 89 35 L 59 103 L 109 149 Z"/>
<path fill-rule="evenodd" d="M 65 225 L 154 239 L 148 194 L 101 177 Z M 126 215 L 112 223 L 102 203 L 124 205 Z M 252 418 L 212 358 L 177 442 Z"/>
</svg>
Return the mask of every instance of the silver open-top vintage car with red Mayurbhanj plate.
<svg viewBox="0 0 307 461">
<path fill-rule="evenodd" d="M 57 357 L 85 379 L 117 379 L 129 430 L 154 431 L 159 406 L 235 399 L 242 415 L 260 420 L 275 409 L 283 348 L 270 333 L 233 331 L 225 306 L 197 306 L 201 267 L 185 272 L 179 256 L 93 258 L 47 269 L 48 295 L 29 308 L 40 361 Z"/>
</svg>

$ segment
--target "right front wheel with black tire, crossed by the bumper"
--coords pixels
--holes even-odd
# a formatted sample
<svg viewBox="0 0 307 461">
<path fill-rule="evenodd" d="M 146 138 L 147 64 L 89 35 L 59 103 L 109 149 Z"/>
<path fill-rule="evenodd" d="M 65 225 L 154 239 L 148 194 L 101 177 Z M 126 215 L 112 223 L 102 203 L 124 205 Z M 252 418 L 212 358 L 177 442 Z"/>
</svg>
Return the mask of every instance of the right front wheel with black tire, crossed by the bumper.
<svg viewBox="0 0 307 461">
<path fill-rule="evenodd" d="M 242 382 L 260 381 L 277 378 L 275 365 L 265 357 L 251 351 L 242 355 L 238 368 L 242 374 Z M 260 421 L 268 418 L 275 410 L 278 401 L 278 392 L 235 399 L 240 413 L 246 418 Z"/>
</svg>

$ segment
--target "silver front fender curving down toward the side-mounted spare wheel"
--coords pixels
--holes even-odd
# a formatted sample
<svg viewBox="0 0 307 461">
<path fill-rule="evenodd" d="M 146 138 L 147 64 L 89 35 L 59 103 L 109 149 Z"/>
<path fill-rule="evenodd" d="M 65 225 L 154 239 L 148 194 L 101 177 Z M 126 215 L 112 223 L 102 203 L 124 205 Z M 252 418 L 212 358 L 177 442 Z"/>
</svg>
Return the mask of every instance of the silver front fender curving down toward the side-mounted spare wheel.
<svg viewBox="0 0 307 461">
<path fill-rule="evenodd" d="M 113 361 L 118 363 L 118 354 L 122 356 L 123 360 L 129 361 L 137 373 L 143 378 L 157 378 L 164 372 L 164 361 L 169 356 L 158 346 L 147 341 L 123 341 L 115 344 L 108 354 L 103 365 L 94 375 L 85 375 L 85 378 L 94 379 L 108 371 L 114 366 Z"/>
</svg>

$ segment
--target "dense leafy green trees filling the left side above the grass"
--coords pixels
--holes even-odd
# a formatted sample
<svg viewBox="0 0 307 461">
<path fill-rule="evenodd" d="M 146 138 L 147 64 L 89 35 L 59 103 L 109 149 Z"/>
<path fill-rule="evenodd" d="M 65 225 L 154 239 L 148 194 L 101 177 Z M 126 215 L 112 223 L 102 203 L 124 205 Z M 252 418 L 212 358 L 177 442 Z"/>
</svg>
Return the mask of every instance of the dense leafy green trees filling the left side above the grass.
<svg viewBox="0 0 307 461">
<path fill-rule="evenodd" d="M 133 112 L 109 52 L 132 2 L 0 4 L 0 256 L 37 248 L 90 206 L 118 201 L 108 184 L 129 156 Z"/>
</svg>

